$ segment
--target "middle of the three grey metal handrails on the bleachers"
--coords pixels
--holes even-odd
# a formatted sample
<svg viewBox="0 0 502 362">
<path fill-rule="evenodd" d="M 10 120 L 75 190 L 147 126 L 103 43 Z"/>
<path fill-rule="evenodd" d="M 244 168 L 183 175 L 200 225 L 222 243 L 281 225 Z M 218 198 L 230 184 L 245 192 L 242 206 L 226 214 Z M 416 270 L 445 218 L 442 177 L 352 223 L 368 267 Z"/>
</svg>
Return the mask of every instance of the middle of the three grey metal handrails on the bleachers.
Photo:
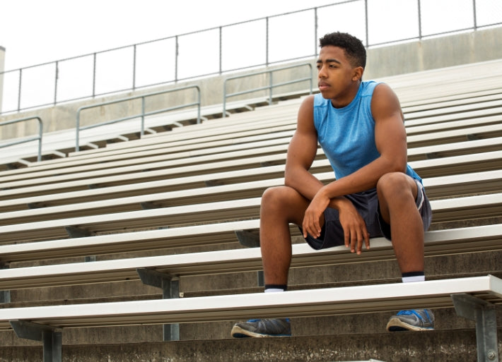
<svg viewBox="0 0 502 362">
<path fill-rule="evenodd" d="M 168 107 L 168 108 L 163 108 L 163 109 L 157 109 L 156 111 L 149 111 L 145 112 L 145 98 L 146 97 L 152 97 L 154 95 L 163 95 L 165 93 L 171 93 L 171 92 L 177 92 L 180 90 L 187 90 L 190 88 L 196 88 L 197 89 L 197 102 L 192 102 L 192 103 L 187 103 L 187 104 L 182 104 L 180 106 L 175 106 L 175 107 Z M 96 123 L 92 124 L 90 126 L 85 126 L 81 127 L 80 126 L 80 116 L 81 116 L 81 111 L 85 109 L 91 109 L 95 107 L 101 107 L 101 106 L 107 106 L 110 104 L 116 104 L 116 103 L 122 103 L 122 102 L 128 102 L 134 99 L 140 99 L 141 98 L 141 113 L 140 114 L 134 114 L 134 116 L 126 116 L 120 119 L 113 119 L 111 121 L 105 121 L 101 123 Z M 99 126 L 105 126 L 108 124 L 112 123 L 118 123 L 122 121 L 127 121 L 128 119 L 134 119 L 138 118 L 141 116 L 141 136 L 144 135 L 144 128 L 145 128 L 145 116 L 152 116 L 153 114 L 159 114 L 163 113 L 166 111 L 173 111 L 175 109 L 181 109 L 181 108 L 186 108 L 186 107 L 191 107 L 191 106 L 197 106 L 197 123 L 200 123 L 201 120 L 201 94 L 200 94 L 200 88 L 198 85 L 188 85 L 187 87 L 182 87 L 182 88 L 175 88 L 172 90 L 162 90 L 160 92 L 153 92 L 153 93 L 148 93 L 146 95 L 136 95 L 134 97 L 127 97 L 127 98 L 122 98 L 122 99 L 115 99 L 113 101 L 109 102 L 103 102 L 103 103 L 97 103 L 97 104 L 91 104 L 88 106 L 83 106 L 77 109 L 76 111 L 76 144 L 75 144 L 75 151 L 78 152 L 80 148 L 78 147 L 78 141 L 79 141 L 79 133 L 80 131 L 89 129 L 89 128 L 95 128 Z"/>
</svg>

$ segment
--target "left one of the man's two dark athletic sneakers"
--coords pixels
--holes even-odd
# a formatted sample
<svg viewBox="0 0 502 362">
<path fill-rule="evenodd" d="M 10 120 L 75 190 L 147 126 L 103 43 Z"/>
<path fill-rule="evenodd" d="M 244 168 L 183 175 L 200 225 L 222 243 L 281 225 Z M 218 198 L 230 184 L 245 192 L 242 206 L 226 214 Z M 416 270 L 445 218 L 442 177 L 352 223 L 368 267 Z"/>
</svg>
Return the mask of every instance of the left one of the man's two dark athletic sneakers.
<svg viewBox="0 0 502 362">
<path fill-rule="evenodd" d="M 235 323 L 232 337 L 289 337 L 291 323 L 289 319 L 252 319 L 247 322 Z"/>
</svg>

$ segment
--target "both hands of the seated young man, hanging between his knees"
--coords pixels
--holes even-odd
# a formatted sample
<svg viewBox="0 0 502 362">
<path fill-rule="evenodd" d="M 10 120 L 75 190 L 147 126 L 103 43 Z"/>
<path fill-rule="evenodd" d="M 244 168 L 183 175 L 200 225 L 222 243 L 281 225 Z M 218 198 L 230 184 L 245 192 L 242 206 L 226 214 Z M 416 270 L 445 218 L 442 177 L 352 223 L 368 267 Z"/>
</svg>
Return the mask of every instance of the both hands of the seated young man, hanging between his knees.
<svg viewBox="0 0 502 362">
<path fill-rule="evenodd" d="M 324 222 L 323 213 L 331 201 L 323 193 L 317 193 L 310 201 L 310 205 L 308 205 L 303 216 L 303 237 L 307 237 L 307 234 L 314 238 L 320 237 L 322 223 Z M 366 249 L 370 248 L 370 236 L 366 229 L 366 223 L 350 200 L 339 198 L 336 205 L 339 212 L 339 221 L 344 229 L 345 246 L 351 248 L 351 253 L 361 254 L 363 243 L 366 245 Z"/>
</svg>

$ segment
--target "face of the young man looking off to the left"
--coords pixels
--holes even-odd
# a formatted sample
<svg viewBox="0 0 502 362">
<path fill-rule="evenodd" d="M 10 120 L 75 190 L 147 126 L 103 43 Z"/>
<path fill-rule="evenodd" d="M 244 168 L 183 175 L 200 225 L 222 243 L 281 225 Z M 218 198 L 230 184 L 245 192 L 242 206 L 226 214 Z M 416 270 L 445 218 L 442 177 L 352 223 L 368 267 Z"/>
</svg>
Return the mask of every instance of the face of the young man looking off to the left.
<svg viewBox="0 0 502 362">
<path fill-rule="evenodd" d="M 356 96 L 362 67 L 353 67 L 339 47 L 322 47 L 317 60 L 317 81 L 322 97 L 332 99 L 335 107 L 344 107 Z"/>
</svg>

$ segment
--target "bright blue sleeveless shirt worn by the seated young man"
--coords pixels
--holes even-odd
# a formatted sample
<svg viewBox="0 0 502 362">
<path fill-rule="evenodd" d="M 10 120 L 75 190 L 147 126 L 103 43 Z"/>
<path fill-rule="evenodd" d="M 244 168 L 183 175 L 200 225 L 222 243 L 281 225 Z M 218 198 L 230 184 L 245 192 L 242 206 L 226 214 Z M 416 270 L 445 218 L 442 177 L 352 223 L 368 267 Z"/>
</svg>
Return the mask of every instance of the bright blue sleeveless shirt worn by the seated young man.
<svg viewBox="0 0 502 362">
<path fill-rule="evenodd" d="M 378 83 L 361 82 L 356 97 L 343 108 L 335 108 L 331 99 L 314 96 L 314 126 L 317 140 L 329 159 L 337 179 L 354 173 L 380 157 L 375 144 L 375 120 L 371 97 Z M 407 175 L 421 178 L 409 164 Z"/>
</svg>

